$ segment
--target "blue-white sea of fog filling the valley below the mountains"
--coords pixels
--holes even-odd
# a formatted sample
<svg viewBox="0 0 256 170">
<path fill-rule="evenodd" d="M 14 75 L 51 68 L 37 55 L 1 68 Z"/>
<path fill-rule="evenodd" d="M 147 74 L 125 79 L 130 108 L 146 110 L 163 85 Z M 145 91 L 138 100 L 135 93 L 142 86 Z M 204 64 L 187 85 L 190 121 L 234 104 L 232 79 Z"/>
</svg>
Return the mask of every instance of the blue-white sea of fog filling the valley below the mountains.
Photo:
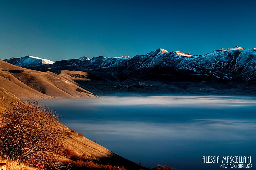
<svg viewBox="0 0 256 170">
<path fill-rule="evenodd" d="M 203 156 L 251 156 L 251 169 L 256 167 L 254 96 L 108 96 L 40 102 L 62 115 L 67 127 L 145 167 L 222 169 L 218 163 L 202 163 Z"/>
</svg>

